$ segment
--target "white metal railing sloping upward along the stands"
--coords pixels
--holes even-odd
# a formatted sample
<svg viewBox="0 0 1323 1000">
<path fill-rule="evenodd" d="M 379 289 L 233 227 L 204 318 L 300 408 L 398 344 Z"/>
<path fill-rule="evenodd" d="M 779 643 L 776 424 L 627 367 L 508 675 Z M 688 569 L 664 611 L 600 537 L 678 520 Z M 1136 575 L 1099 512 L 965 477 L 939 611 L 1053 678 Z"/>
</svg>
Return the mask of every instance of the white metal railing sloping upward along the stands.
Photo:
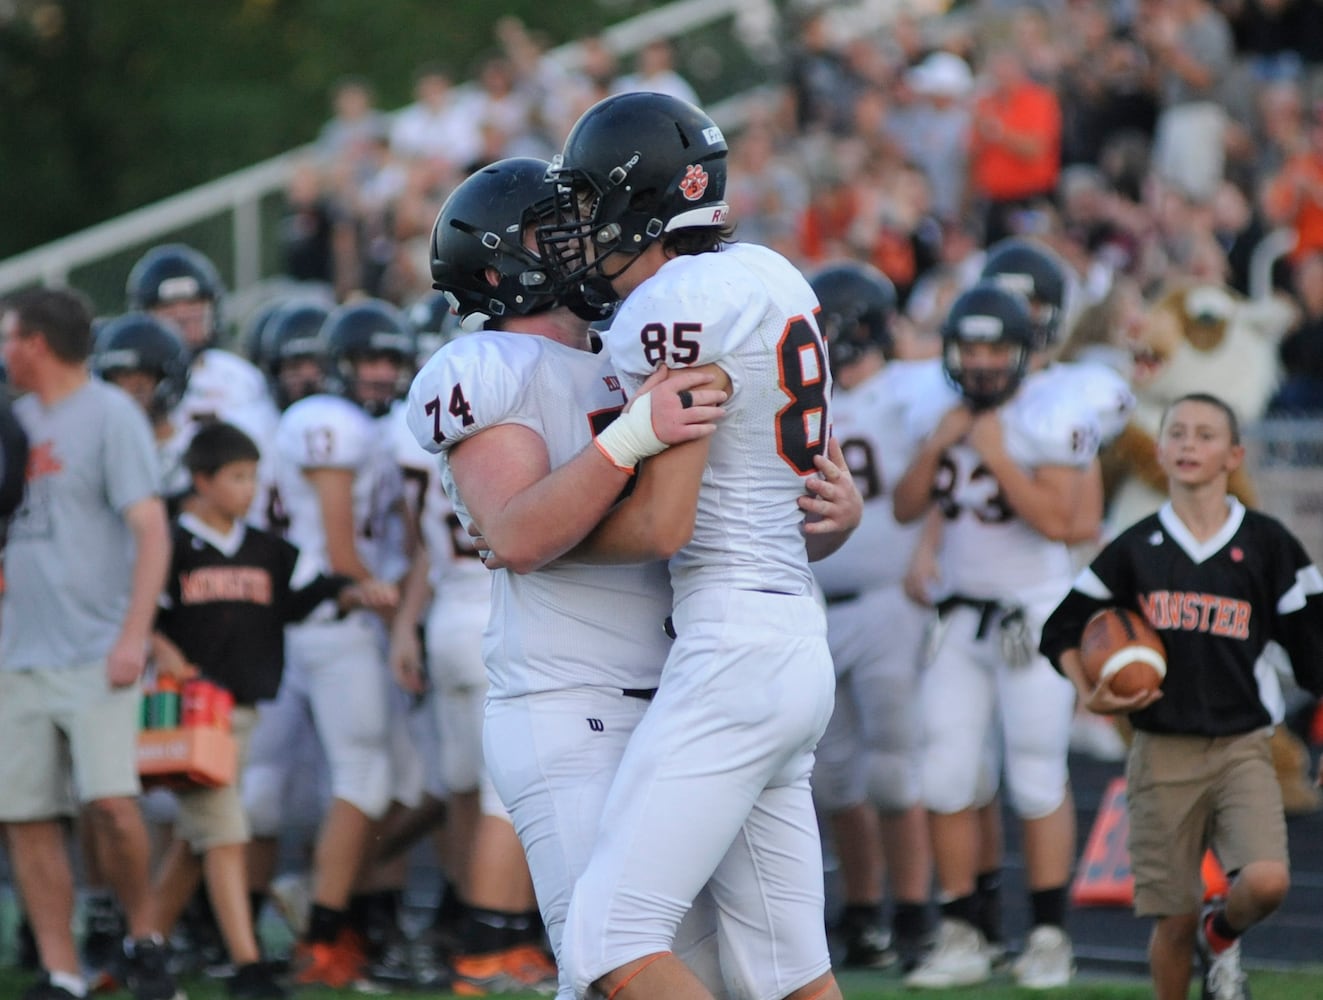
<svg viewBox="0 0 1323 1000">
<path fill-rule="evenodd" d="M 746 48 L 755 49 L 775 38 L 778 13 L 773 0 L 677 0 L 605 29 L 602 41 L 617 56 L 627 56 L 655 38 L 680 36 L 725 17 L 736 20 L 736 32 Z M 581 52 L 578 42 L 569 42 L 549 57 L 573 67 L 581 62 Z M 721 102 L 709 111 L 722 126 L 737 127 L 744 119 L 744 102 L 738 98 Z M 79 267 L 222 214 L 230 216 L 234 254 L 230 274 L 234 290 L 242 291 L 263 276 L 262 200 L 284 188 L 310 148 L 300 147 L 0 261 L 0 295 L 29 284 L 66 284 Z"/>
</svg>

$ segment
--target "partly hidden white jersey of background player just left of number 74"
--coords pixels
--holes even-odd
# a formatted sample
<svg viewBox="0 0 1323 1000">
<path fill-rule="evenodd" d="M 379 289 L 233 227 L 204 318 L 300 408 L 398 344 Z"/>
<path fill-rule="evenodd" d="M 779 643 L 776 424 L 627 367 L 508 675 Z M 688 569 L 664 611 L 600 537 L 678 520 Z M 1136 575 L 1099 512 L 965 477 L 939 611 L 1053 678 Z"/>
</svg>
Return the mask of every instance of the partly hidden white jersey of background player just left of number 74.
<svg viewBox="0 0 1323 1000">
<path fill-rule="evenodd" d="M 427 579 L 433 595 L 446 601 L 491 603 L 491 571 L 478 558 L 472 537 L 459 522 L 450 497 L 441 485 L 441 466 L 435 455 L 418 443 L 409 429 L 409 406 L 392 407 L 390 450 L 405 485 L 405 507 L 418 519 L 422 545 L 427 550 Z"/>
</svg>

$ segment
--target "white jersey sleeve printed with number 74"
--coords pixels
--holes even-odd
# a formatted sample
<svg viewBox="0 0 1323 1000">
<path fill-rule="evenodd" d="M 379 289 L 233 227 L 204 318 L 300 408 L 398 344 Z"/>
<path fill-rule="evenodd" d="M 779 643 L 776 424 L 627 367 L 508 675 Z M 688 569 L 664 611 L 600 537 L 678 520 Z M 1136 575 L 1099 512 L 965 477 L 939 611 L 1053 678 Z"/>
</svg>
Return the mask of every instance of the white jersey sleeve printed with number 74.
<svg viewBox="0 0 1323 1000">
<path fill-rule="evenodd" d="M 540 337 L 488 332 L 441 348 L 414 377 L 407 422 L 417 442 L 441 452 L 486 427 L 541 431 L 520 401 L 541 358 Z"/>
</svg>

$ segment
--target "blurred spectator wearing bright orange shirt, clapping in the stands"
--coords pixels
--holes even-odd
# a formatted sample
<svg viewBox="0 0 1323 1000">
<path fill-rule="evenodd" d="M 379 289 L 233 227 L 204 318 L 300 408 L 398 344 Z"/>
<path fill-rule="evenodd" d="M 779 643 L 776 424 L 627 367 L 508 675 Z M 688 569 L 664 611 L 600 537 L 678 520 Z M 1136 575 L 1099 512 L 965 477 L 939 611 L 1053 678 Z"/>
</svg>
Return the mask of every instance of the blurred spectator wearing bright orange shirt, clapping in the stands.
<svg viewBox="0 0 1323 1000">
<path fill-rule="evenodd" d="M 984 206 L 984 238 L 1028 235 L 1032 213 L 1050 201 L 1061 172 L 1061 107 L 1035 83 L 1015 49 L 987 60 L 988 90 L 974 104 L 970 175 Z"/>
</svg>

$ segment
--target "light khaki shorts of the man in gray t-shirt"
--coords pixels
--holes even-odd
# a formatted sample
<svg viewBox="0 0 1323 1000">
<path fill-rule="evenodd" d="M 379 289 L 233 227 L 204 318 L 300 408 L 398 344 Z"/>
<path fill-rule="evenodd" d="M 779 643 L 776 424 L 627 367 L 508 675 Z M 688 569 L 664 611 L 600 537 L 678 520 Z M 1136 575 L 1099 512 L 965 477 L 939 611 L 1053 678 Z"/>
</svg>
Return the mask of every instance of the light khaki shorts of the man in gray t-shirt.
<svg viewBox="0 0 1323 1000">
<path fill-rule="evenodd" d="M 0 821 L 136 796 L 140 704 L 139 685 L 110 688 L 105 661 L 0 671 Z"/>
</svg>

